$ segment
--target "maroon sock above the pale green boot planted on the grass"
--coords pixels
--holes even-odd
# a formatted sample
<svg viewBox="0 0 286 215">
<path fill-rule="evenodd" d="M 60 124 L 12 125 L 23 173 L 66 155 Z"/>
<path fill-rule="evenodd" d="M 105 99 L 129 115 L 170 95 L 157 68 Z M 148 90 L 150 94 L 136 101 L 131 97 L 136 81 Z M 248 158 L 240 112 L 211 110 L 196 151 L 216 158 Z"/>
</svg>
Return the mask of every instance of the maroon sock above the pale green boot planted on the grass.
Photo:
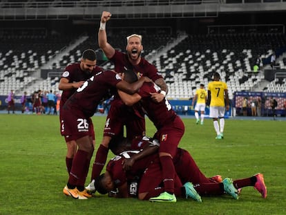
<svg viewBox="0 0 286 215">
<path fill-rule="evenodd" d="M 160 163 L 162 166 L 164 190 L 173 194 L 175 187 L 175 167 L 170 156 L 161 156 Z"/>
</svg>

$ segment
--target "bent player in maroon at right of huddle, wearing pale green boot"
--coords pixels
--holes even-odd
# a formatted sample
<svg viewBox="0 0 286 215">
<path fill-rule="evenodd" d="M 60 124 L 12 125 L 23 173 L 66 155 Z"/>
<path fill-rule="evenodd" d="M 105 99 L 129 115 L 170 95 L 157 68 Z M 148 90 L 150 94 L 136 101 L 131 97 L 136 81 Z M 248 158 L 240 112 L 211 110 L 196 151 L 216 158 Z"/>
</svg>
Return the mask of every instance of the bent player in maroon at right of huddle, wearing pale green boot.
<svg viewBox="0 0 286 215">
<path fill-rule="evenodd" d="M 137 80 L 137 76 L 133 75 L 128 82 L 132 83 L 135 80 Z M 150 200 L 175 202 L 175 168 L 172 159 L 184 135 L 184 123 L 173 111 L 171 104 L 166 98 L 162 102 L 153 102 L 151 95 L 154 93 L 160 93 L 160 87 L 153 82 L 143 84 L 140 91 L 133 95 L 119 91 L 122 101 L 128 106 L 132 106 L 140 101 L 142 109 L 157 129 L 155 138 L 160 142 L 159 156 L 164 178 L 164 192 L 157 197 L 150 198 Z"/>
</svg>

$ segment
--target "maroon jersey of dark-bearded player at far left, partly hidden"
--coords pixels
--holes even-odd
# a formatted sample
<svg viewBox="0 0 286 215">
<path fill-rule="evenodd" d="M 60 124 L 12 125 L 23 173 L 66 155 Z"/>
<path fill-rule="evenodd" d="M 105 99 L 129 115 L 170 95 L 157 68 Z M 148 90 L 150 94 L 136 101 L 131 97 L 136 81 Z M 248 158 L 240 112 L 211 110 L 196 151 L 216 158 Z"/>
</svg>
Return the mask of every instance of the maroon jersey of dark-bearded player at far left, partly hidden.
<svg viewBox="0 0 286 215">
<path fill-rule="evenodd" d="M 68 83 L 80 82 L 88 80 L 90 77 L 92 77 L 96 73 L 99 73 L 100 71 L 103 71 L 103 69 L 98 66 L 95 66 L 91 73 L 87 73 L 81 70 L 79 63 L 75 63 L 67 66 L 61 77 L 65 77 L 66 79 L 68 79 Z M 73 95 L 75 91 L 77 91 L 76 88 L 63 91 L 63 93 L 61 94 L 61 102 L 59 103 L 60 108 L 64 106 L 66 100 L 68 100 L 70 95 Z"/>
</svg>

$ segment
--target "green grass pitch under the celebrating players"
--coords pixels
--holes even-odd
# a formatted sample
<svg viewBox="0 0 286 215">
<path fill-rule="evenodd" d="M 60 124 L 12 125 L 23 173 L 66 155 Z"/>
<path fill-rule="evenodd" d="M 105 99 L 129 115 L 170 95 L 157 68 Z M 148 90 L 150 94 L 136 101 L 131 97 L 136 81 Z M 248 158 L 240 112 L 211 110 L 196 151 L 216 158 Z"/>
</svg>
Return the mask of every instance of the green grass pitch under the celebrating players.
<svg viewBox="0 0 286 215">
<path fill-rule="evenodd" d="M 96 148 L 105 118 L 93 117 Z M 58 116 L 1 114 L 0 214 L 286 214 L 286 121 L 227 119 L 223 140 L 215 140 L 210 119 L 203 126 L 193 118 L 183 121 L 186 129 L 179 147 L 191 153 L 206 176 L 246 178 L 263 173 L 267 198 L 245 187 L 238 200 L 225 194 L 203 196 L 202 203 L 182 198 L 177 203 L 149 203 L 99 194 L 75 200 L 62 193 L 68 174 Z M 146 130 L 148 135 L 155 132 L 149 120 Z M 90 174 L 86 184 L 89 180 Z"/>
</svg>

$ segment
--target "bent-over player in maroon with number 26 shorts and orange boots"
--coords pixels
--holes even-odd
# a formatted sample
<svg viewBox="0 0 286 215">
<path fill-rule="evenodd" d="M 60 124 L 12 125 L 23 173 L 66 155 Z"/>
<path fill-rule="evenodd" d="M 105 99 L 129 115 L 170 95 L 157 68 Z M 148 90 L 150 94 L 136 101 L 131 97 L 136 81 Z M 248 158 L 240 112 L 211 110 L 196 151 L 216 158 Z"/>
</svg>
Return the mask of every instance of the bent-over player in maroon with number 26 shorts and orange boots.
<svg viewBox="0 0 286 215">
<path fill-rule="evenodd" d="M 124 73 L 133 73 L 125 71 Z M 124 75 L 122 75 L 124 76 Z M 129 84 L 122 80 L 120 74 L 114 71 L 102 71 L 90 77 L 77 91 L 70 96 L 61 110 L 61 135 L 77 143 L 77 153 L 73 159 L 68 183 L 64 187 L 64 194 L 73 198 L 86 199 L 91 195 L 84 189 L 84 183 L 88 174 L 91 154 L 93 153 L 93 140 L 90 137 L 90 117 L 93 116 L 97 105 L 106 100 L 120 89 L 126 93 L 135 93 L 148 77 Z"/>
</svg>

